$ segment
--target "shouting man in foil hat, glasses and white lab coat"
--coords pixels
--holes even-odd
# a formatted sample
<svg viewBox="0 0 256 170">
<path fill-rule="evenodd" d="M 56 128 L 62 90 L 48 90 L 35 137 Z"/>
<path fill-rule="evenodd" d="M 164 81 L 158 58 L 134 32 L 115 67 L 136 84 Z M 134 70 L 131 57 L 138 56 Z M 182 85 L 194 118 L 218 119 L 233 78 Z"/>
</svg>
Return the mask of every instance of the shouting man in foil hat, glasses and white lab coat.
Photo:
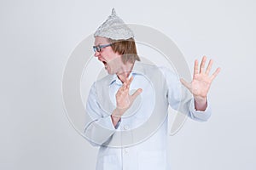
<svg viewBox="0 0 256 170">
<path fill-rule="evenodd" d="M 91 144 L 100 146 L 97 170 L 169 169 L 168 106 L 197 121 L 211 116 L 207 93 L 220 71 L 209 76 L 212 60 L 207 69 L 206 57 L 200 69 L 195 60 L 193 81 L 179 81 L 166 68 L 139 62 L 133 37 L 114 9 L 95 33 L 95 56 L 108 76 L 90 89 L 86 111 L 91 120 L 84 135 Z"/>
</svg>

